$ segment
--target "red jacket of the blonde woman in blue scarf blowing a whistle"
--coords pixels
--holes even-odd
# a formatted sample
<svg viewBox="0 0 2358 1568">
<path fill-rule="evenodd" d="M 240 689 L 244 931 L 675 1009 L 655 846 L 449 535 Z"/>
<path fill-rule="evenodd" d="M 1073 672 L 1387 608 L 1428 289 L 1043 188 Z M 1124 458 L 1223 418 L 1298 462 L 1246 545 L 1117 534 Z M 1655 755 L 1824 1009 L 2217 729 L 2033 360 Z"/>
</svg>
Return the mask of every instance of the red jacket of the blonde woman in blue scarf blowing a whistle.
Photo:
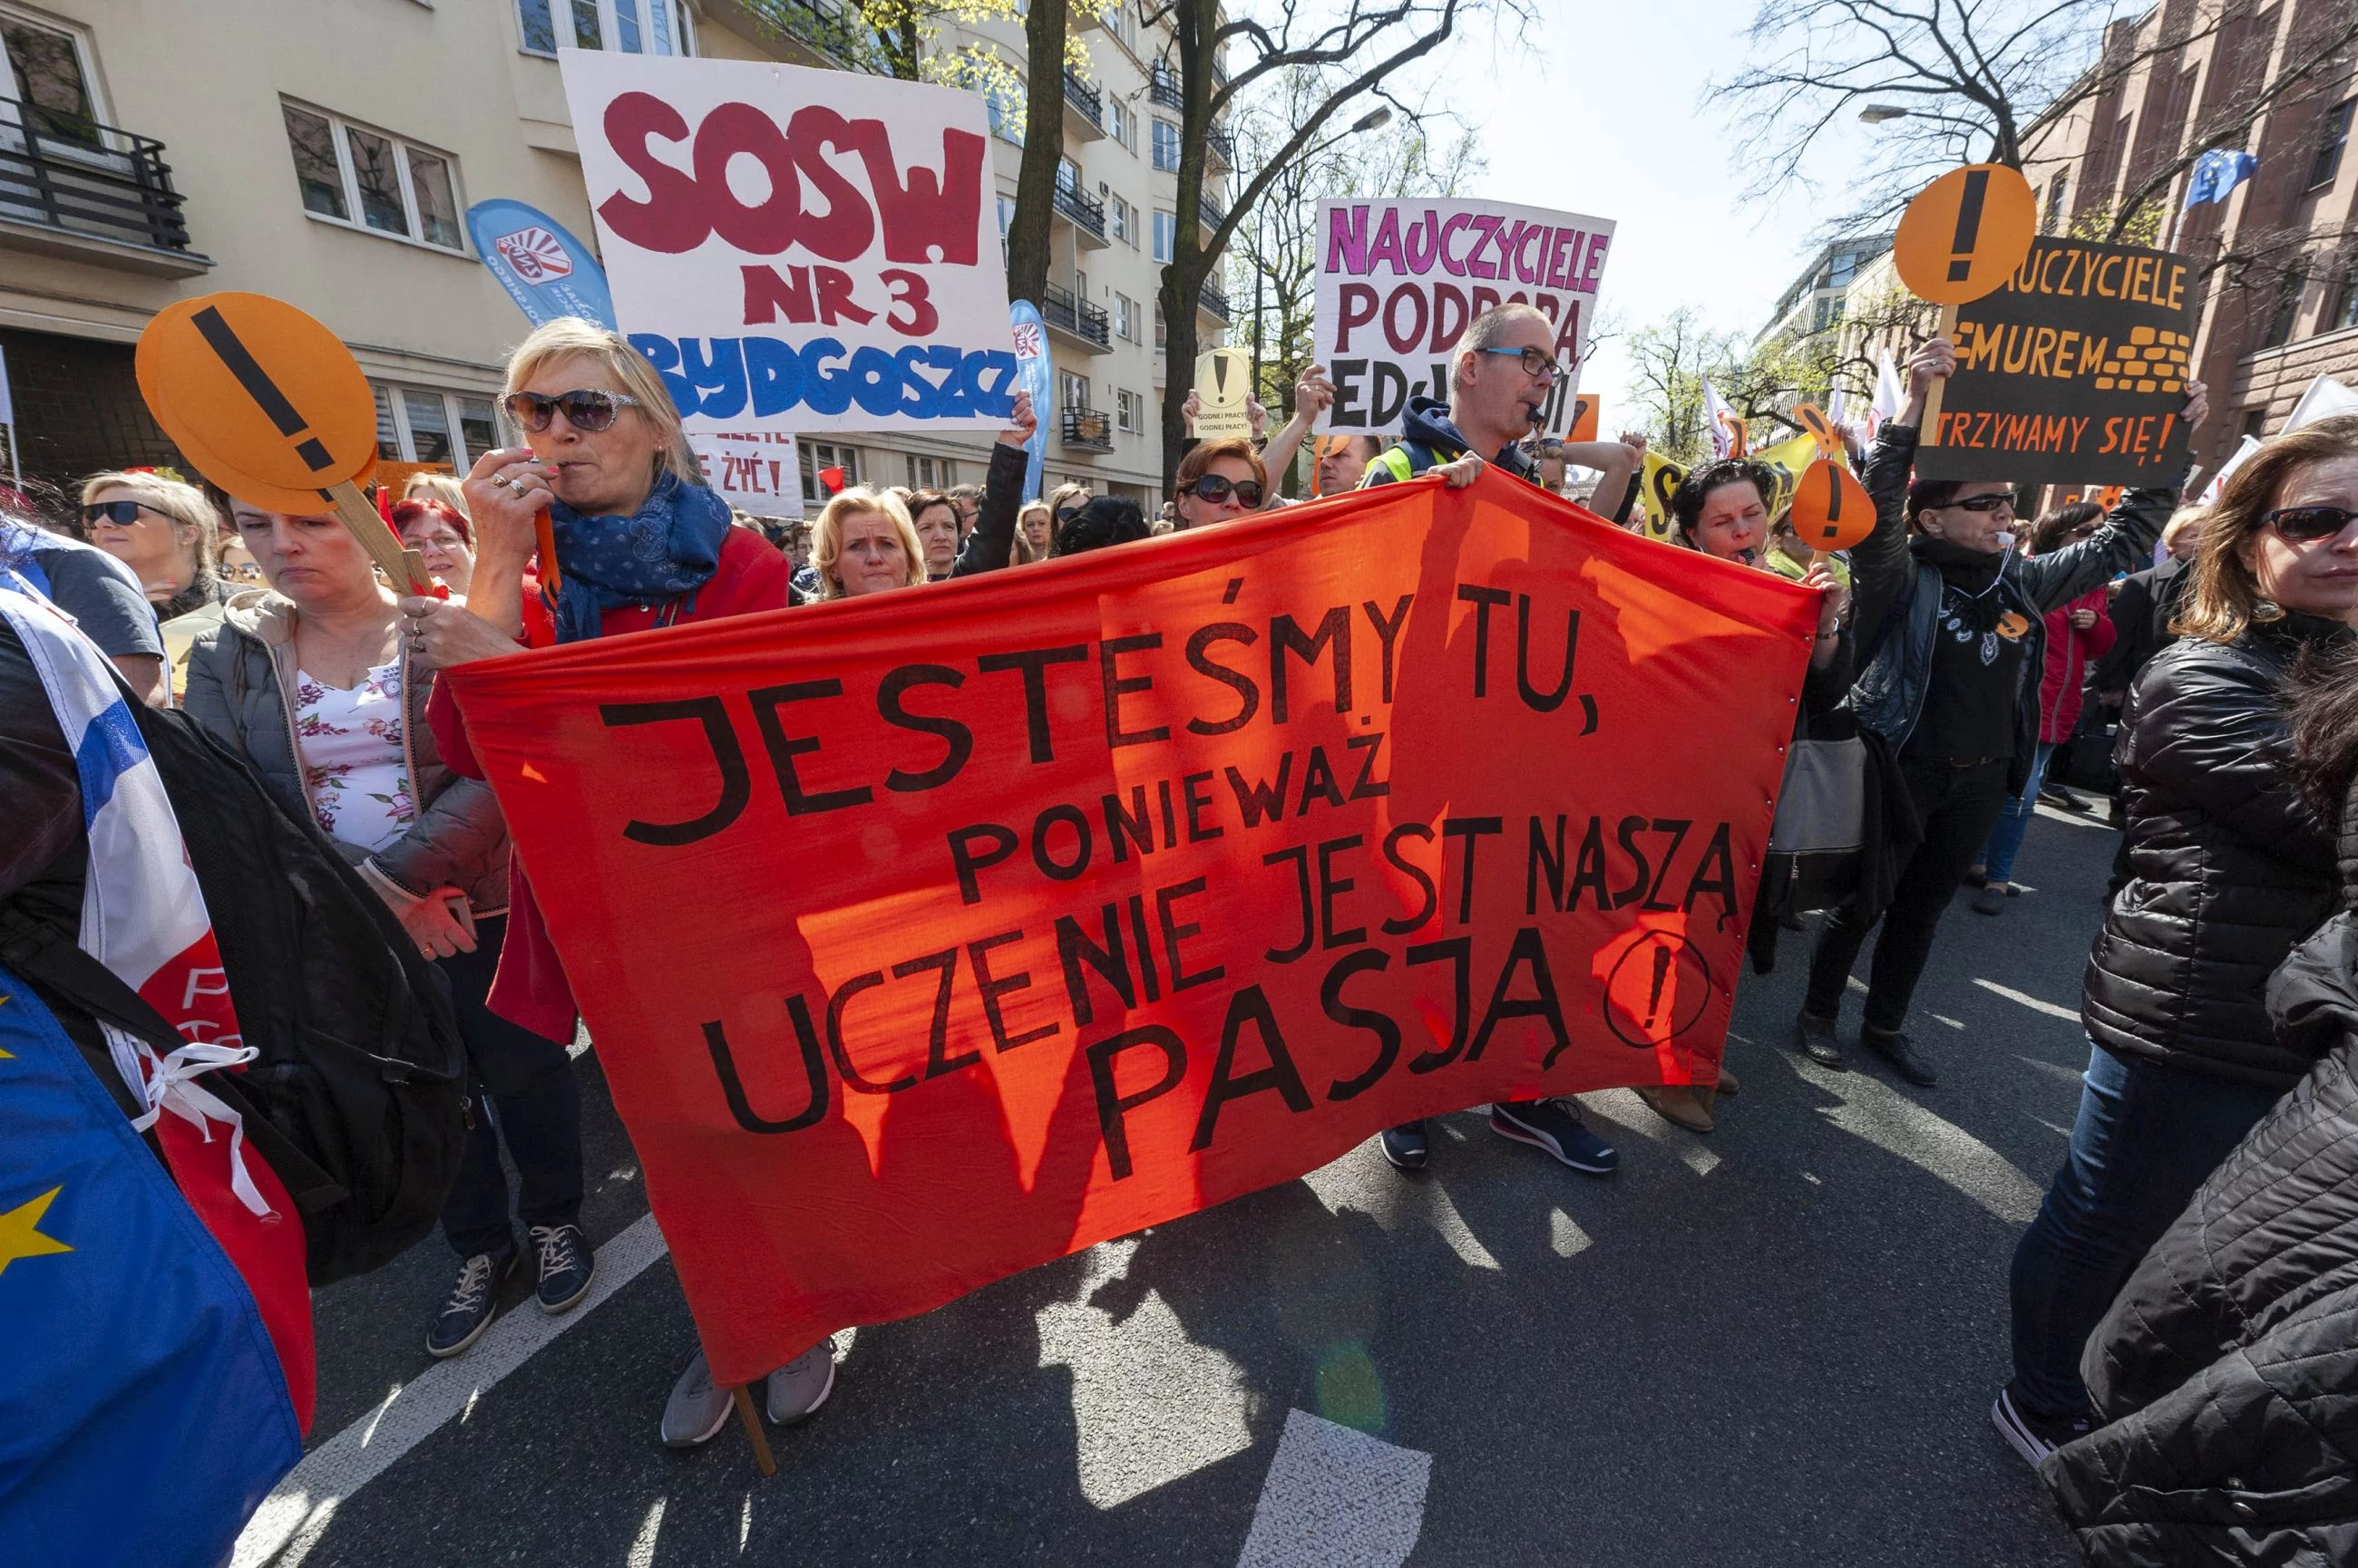
<svg viewBox="0 0 2358 1568">
<path fill-rule="evenodd" d="M 783 611 L 790 578 L 792 568 L 785 556 L 771 549 L 759 533 L 731 528 L 729 538 L 722 540 L 722 561 L 712 580 L 696 589 L 696 599 L 672 618 L 672 625 L 750 615 L 755 611 Z M 538 625 L 531 613 L 523 620 L 526 641 L 533 646 L 554 641 L 554 632 L 542 630 L 549 625 L 545 615 Z M 632 604 L 606 611 L 599 622 L 601 637 L 646 632 L 656 625 L 656 611 Z M 434 696 L 427 698 L 427 724 L 434 729 L 443 762 L 467 778 L 483 776 L 483 764 L 474 759 L 474 747 L 467 743 L 467 724 L 460 719 L 457 703 L 450 698 L 446 681 L 434 681 Z M 521 856 L 509 856 L 507 861 L 507 941 L 500 946 L 500 969 L 490 981 L 490 1012 L 535 1035 L 561 1042 L 573 1040 L 578 1016 L 573 986 L 566 983 L 566 969 L 549 943 L 549 929 L 542 924 L 533 887 L 523 877 Z"/>
</svg>

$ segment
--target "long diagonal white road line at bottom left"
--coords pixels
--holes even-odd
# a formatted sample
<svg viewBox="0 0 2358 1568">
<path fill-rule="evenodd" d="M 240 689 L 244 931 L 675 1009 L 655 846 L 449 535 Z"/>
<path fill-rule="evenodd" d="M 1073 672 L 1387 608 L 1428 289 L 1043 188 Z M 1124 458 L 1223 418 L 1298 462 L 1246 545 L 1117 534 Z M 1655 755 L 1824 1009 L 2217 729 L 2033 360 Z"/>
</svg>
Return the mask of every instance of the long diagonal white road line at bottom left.
<svg viewBox="0 0 2358 1568">
<path fill-rule="evenodd" d="M 474 1398 L 521 1368 L 545 1344 L 580 1325 L 613 1292 L 630 1285 L 667 1247 L 653 1214 L 641 1214 L 637 1224 L 597 1250 L 597 1276 L 582 1304 L 561 1318 L 552 1318 L 533 1304 L 512 1309 L 490 1325 L 474 1349 L 450 1361 L 436 1361 L 408 1384 L 384 1396 L 384 1403 L 365 1417 L 344 1427 L 302 1457 L 288 1476 L 271 1488 L 255 1516 L 238 1535 L 233 1568 L 295 1568 L 311 1554 L 328 1521 L 344 1497 L 382 1476 L 401 1455 L 410 1452 L 443 1422 L 474 1405 Z M 660 1523 L 658 1514 L 651 1516 Z M 653 1537 L 648 1537 L 653 1547 Z"/>
</svg>

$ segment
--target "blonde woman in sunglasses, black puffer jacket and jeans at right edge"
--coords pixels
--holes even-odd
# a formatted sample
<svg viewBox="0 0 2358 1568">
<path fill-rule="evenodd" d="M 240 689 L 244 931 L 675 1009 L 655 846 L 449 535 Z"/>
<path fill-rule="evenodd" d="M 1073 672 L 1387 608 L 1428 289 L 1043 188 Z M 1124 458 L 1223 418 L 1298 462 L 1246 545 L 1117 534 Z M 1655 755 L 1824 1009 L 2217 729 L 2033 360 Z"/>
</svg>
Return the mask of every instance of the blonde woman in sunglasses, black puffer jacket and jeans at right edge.
<svg viewBox="0 0 2358 1568">
<path fill-rule="evenodd" d="M 2316 1063 L 2268 974 L 2337 903 L 2292 769 L 2294 674 L 2358 627 L 2358 417 L 2278 436 L 2202 523 L 2179 641 L 2122 717 L 2129 884 L 2087 960 L 2089 1059 L 2063 1167 L 2014 1250 L 2014 1382 L 1990 1417 L 2033 1464 L 2089 1429 L 2080 1353 L 2205 1177 Z"/>
</svg>

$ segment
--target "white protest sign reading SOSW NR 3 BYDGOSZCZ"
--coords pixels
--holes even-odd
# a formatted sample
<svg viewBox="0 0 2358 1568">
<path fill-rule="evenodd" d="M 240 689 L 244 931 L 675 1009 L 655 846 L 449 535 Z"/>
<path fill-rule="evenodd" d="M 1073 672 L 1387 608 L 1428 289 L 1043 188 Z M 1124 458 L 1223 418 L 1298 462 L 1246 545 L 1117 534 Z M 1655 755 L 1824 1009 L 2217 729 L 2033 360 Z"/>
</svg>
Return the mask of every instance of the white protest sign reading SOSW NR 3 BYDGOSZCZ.
<svg viewBox="0 0 2358 1568">
<path fill-rule="evenodd" d="M 983 99 L 766 61 L 559 50 L 615 318 L 689 431 L 1000 429 Z"/>
</svg>

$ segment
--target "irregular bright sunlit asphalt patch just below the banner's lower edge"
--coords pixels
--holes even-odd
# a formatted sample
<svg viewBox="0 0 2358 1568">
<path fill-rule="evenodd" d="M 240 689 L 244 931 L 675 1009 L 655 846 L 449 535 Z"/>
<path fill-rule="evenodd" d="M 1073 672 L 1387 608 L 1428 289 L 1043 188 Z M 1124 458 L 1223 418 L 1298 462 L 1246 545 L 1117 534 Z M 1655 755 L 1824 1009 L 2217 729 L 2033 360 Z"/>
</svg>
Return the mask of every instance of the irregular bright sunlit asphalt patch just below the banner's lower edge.
<svg viewBox="0 0 2358 1568">
<path fill-rule="evenodd" d="M 1087 1252 L 1073 1302 L 1040 1309 L 1040 1365 L 1073 1368 L 1073 1462 L 1080 1495 L 1099 1509 L 1193 1476 L 1252 1448 L 1252 1391 L 1233 1361 L 1196 1344 L 1179 1313 L 1148 1290 L 1120 1323 L 1089 1304 L 1118 1278 L 1137 1240 Z"/>
</svg>

